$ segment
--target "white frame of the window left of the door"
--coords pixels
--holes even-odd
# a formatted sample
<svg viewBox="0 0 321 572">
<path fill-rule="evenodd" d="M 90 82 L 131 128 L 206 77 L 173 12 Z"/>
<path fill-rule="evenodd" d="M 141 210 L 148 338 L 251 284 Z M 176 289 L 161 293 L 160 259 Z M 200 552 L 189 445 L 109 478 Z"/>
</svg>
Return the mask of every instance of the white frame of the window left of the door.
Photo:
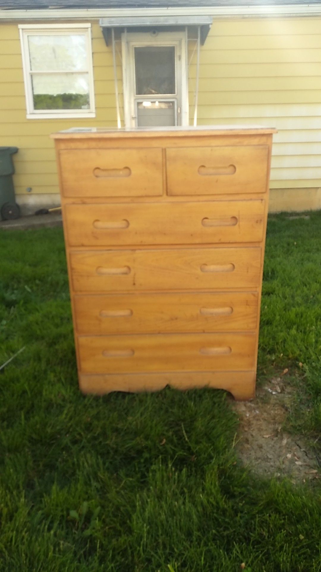
<svg viewBox="0 0 321 572">
<path fill-rule="evenodd" d="M 87 118 L 95 117 L 95 92 L 94 92 L 94 74 L 93 74 L 93 53 L 91 49 L 91 24 L 21 24 L 19 27 L 21 53 L 22 53 L 22 68 L 23 80 L 25 82 L 25 96 L 26 96 L 26 109 L 27 119 L 72 119 L 72 118 Z M 89 109 L 34 109 L 33 99 L 33 86 L 31 82 L 31 69 L 30 69 L 30 56 L 29 56 L 29 35 L 70 35 L 70 34 L 83 34 L 86 38 L 87 48 L 87 69 L 79 70 L 79 73 L 89 74 Z M 47 71 L 41 72 L 51 74 L 54 72 Z M 63 72 L 64 73 L 64 72 Z M 77 70 L 78 73 L 78 70 Z"/>
</svg>

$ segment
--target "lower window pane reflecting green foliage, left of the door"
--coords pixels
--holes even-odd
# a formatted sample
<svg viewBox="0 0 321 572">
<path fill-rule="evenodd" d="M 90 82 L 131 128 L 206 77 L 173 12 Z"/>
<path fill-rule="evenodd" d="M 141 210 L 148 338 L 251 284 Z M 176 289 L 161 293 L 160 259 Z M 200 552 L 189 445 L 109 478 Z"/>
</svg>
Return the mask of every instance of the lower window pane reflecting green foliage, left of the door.
<svg viewBox="0 0 321 572">
<path fill-rule="evenodd" d="M 32 76 L 34 109 L 89 109 L 88 74 Z"/>
</svg>

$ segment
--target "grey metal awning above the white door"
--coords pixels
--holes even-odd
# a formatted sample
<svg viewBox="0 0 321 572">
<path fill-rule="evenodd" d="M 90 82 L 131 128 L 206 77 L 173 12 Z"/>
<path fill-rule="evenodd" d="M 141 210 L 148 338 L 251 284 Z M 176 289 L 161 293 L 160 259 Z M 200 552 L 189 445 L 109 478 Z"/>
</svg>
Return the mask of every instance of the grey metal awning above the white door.
<svg viewBox="0 0 321 572">
<path fill-rule="evenodd" d="M 137 16 L 128 18 L 122 16 L 119 18 L 101 18 L 99 24 L 102 28 L 103 37 L 108 45 L 109 43 L 109 30 L 112 28 L 135 28 L 135 29 L 146 29 L 146 28 L 168 28 L 168 27 L 186 27 L 186 26 L 196 26 L 200 28 L 200 43 L 203 46 L 207 34 L 210 31 L 212 24 L 212 17 L 210 15 L 195 15 L 195 16 Z"/>
</svg>

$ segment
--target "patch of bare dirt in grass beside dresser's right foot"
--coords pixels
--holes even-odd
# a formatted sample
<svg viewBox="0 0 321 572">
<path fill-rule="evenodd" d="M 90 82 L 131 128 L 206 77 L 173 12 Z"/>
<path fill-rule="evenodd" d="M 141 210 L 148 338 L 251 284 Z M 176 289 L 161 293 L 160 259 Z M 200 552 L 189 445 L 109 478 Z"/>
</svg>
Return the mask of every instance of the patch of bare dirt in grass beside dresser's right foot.
<svg viewBox="0 0 321 572">
<path fill-rule="evenodd" d="M 282 429 L 294 391 L 286 378 L 275 378 L 257 388 L 253 401 L 234 402 L 240 420 L 236 450 L 256 474 L 305 483 L 321 475 L 318 460 L 304 440 Z"/>
</svg>

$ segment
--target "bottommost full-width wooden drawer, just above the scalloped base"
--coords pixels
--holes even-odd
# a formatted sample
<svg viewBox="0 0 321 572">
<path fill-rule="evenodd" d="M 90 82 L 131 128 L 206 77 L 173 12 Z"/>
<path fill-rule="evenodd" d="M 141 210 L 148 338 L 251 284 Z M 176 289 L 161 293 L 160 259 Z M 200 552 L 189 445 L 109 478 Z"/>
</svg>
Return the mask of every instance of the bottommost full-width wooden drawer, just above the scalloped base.
<svg viewBox="0 0 321 572">
<path fill-rule="evenodd" d="M 151 371 L 246 371 L 254 368 L 254 333 L 79 336 L 84 374 Z"/>
</svg>

